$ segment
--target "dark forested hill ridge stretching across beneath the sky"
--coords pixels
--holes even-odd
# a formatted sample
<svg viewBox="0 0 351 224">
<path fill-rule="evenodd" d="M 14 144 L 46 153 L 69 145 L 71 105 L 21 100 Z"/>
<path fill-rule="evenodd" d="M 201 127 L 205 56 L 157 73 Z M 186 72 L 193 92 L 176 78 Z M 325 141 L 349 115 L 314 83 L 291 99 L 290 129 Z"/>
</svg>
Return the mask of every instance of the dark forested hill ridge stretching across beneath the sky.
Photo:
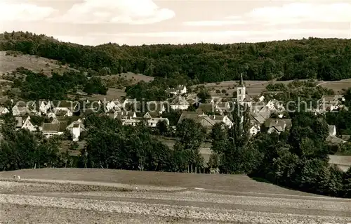
<svg viewBox="0 0 351 224">
<path fill-rule="evenodd" d="M 351 40 L 317 39 L 256 44 L 185 44 L 82 46 L 29 32 L 0 34 L 1 51 L 21 51 L 67 62 L 73 67 L 112 74 L 143 73 L 154 77 L 185 74 L 195 82 L 239 79 L 351 78 Z"/>
</svg>

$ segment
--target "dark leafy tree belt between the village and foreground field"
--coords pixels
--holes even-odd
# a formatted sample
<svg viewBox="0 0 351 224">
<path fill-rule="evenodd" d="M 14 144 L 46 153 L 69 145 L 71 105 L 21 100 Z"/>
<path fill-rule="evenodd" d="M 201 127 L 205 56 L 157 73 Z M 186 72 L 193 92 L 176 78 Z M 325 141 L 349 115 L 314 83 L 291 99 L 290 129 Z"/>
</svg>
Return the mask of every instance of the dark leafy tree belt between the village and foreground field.
<svg viewBox="0 0 351 224">
<path fill-rule="evenodd" d="M 159 123 L 152 130 L 143 121 L 136 126 L 124 126 L 105 114 L 91 114 L 84 121 L 88 131 L 81 137 L 86 147 L 76 159 L 58 152 L 60 138 L 46 139 L 41 133 L 15 131 L 13 117 L 6 116 L 1 125 L 4 137 L 0 143 L 3 171 L 67 164 L 80 168 L 171 172 L 218 168 L 220 173 L 247 173 L 305 192 L 351 197 L 351 168 L 343 172 L 329 164 L 328 155 L 333 152 L 326 143 L 328 125 L 324 117 L 312 113 L 291 114 L 289 132 L 267 133 L 263 129 L 251 138 L 248 110 L 234 110 L 234 126 L 229 129 L 216 124 L 209 134 L 192 119 L 184 119 L 172 131 L 166 124 Z M 173 149 L 157 137 L 167 136 L 169 132 L 176 137 Z M 211 141 L 213 151 L 207 164 L 199 152 L 205 140 Z"/>
</svg>

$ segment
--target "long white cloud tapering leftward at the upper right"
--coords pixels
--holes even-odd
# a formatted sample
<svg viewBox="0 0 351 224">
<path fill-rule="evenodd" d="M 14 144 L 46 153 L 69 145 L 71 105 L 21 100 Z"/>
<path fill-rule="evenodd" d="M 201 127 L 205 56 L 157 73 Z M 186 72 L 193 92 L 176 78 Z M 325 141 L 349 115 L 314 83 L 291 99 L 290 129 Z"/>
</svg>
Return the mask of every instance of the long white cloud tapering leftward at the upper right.
<svg viewBox="0 0 351 224">
<path fill-rule="evenodd" d="M 223 20 L 187 21 L 190 26 L 224 26 L 235 24 L 291 25 L 301 22 L 351 22 L 351 4 L 291 3 L 283 6 L 254 8 L 243 15 L 227 16 Z"/>
</svg>

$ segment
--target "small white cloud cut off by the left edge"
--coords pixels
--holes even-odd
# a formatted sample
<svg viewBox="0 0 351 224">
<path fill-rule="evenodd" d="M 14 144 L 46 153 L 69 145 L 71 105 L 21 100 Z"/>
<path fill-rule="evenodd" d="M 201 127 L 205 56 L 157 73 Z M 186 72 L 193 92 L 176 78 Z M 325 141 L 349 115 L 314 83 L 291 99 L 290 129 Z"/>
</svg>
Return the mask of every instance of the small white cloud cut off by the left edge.
<svg viewBox="0 0 351 224">
<path fill-rule="evenodd" d="M 27 3 L 0 2 L 0 22 L 30 22 L 43 20 L 56 10 L 51 7 L 41 7 Z"/>
</svg>

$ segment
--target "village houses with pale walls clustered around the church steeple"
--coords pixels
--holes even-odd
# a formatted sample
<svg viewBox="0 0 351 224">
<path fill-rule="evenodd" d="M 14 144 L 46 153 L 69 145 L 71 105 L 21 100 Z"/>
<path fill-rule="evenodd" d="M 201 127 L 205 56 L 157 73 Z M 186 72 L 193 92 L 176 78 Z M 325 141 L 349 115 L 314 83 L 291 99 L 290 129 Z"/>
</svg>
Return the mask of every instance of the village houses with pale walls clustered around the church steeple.
<svg viewBox="0 0 351 224">
<path fill-rule="evenodd" d="M 164 112 L 181 111 L 178 123 L 183 119 L 193 119 L 204 126 L 208 133 L 213 126 L 223 123 L 232 127 L 233 105 L 239 103 L 249 110 L 251 126 L 249 133 L 255 136 L 265 128 L 267 133 L 282 133 L 291 128 L 291 119 L 286 117 L 287 110 L 283 103 L 276 99 L 265 100 L 265 96 L 249 95 L 246 93 L 246 86 L 241 76 L 239 85 L 236 87 L 237 98 L 211 97 L 206 100 L 194 98 L 194 94 L 187 91 L 187 86 L 179 85 L 176 88 L 168 88 L 166 92 L 171 95 L 166 101 L 139 102 L 136 99 L 125 98 L 124 100 L 110 100 L 102 102 L 77 101 L 50 101 L 39 100 L 25 103 L 15 103 L 11 100 L 11 107 L 0 107 L 0 114 L 11 113 L 15 117 L 15 129 L 28 129 L 29 131 L 40 131 L 44 136 L 60 136 L 69 132 L 72 141 L 79 141 L 81 133 L 86 131 L 84 119 L 86 114 L 93 112 L 105 114 L 111 119 L 119 119 L 123 125 L 135 126 L 140 121 L 147 123 L 147 126 L 156 128 L 159 122 L 164 122 L 172 129 L 176 124 L 171 125 L 168 118 L 162 117 Z M 201 103 L 204 102 L 204 103 Z M 348 110 L 343 103 L 343 95 L 323 95 L 317 108 L 309 108 L 308 111 L 314 114 L 336 112 L 340 109 Z M 190 110 L 192 109 L 192 110 Z M 32 116 L 44 117 L 44 122 L 35 124 Z M 345 143 L 350 136 L 336 136 L 336 126 L 329 124 L 328 141 L 333 144 Z"/>
</svg>

